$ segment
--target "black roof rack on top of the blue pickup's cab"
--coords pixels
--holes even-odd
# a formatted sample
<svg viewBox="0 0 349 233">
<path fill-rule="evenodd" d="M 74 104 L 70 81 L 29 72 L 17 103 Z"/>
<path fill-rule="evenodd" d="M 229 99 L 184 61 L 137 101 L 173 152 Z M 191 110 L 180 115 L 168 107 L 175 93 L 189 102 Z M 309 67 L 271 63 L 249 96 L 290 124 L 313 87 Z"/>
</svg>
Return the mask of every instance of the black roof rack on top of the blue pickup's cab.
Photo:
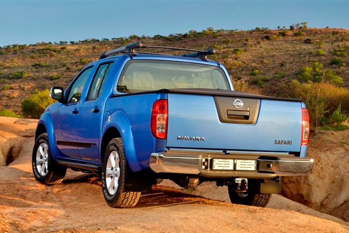
<svg viewBox="0 0 349 233">
<path fill-rule="evenodd" d="M 165 46 L 152 46 L 152 45 L 143 45 L 140 42 L 128 44 L 113 50 L 106 51 L 101 54 L 99 59 L 106 58 L 108 56 L 111 56 L 113 54 L 117 53 L 148 53 L 148 54 L 162 54 L 162 53 L 152 53 L 152 52 L 135 52 L 135 49 L 141 49 L 141 48 L 154 48 L 154 49 L 171 49 L 171 50 L 185 50 L 185 51 L 192 51 L 193 53 L 189 54 L 183 54 L 182 57 L 192 57 L 192 58 L 201 58 L 201 59 L 207 59 L 208 55 L 212 55 L 216 53 L 215 49 L 206 49 L 206 50 L 195 50 L 195 49 L 185 49 L 185 48 L 175 48 L 175 47 L 165 47 Z"/>
</svg>

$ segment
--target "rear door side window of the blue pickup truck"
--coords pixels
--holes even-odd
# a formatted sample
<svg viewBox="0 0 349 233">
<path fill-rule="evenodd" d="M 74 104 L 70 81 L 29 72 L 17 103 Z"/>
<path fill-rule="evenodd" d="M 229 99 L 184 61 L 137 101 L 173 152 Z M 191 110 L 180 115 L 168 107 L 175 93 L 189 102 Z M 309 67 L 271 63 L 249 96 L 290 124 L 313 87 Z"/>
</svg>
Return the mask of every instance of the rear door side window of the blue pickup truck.
<svg viewBox="0 0 349 233">
<path fill-rule="evenodd" d="M 101 95 L 105 78 L 108 76 L 112 63 L 102 64 L 98 67 L 92 85 L 89 90 L 87 100 L 95 100 Z"/>
</svg>

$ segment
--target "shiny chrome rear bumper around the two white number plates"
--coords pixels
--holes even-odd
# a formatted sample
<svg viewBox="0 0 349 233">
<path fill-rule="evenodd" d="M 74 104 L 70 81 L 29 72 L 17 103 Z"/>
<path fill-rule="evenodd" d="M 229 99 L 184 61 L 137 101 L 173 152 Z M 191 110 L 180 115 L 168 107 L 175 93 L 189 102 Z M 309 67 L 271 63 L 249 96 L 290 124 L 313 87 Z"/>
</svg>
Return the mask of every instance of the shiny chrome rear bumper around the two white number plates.
<svg viewBox="0 0 349 233">
<path fill-rule="evenodd" d="M 213 159 L 255 160 L 255 170 L 214 170 Z M 152 153 L 150 168 L 156 173 L 191 174 L 211 178 L 246 177 L 268 179 L 302 176 L 311 171 L 314 160 L 285 154 L 219 154 L 168 151 Z"/>
</svg>

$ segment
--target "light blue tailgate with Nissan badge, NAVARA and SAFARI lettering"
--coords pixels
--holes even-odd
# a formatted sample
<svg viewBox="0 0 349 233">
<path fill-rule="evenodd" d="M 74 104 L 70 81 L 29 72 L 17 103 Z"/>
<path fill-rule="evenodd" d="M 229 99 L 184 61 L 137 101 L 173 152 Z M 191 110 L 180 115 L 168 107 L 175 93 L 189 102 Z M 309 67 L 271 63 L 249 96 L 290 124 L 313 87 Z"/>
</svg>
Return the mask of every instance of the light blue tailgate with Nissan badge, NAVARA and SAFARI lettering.
<svg viewBox="0 0 349 233">
<path fill-rule="evenodd" d="M 168 148 L 300 151 L 299 100 L 169 92 L 168 116 Z"/>
</svg>

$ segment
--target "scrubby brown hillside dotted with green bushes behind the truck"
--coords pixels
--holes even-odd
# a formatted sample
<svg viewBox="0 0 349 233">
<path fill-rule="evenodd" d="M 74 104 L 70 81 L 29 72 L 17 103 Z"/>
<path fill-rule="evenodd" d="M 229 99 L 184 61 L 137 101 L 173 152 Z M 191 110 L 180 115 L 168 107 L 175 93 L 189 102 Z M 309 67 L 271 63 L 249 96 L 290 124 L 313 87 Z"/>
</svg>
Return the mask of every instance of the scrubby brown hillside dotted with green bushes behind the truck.
<svg viewBox="0 0 349 233">
<path fill-rule="evenodd" d="M 302 67 L 312 67 L 316 61 L 323 64 L 319 68 L 321 75 L 331 69 L 331 77 L 341 77 L 343 83 L 340 85 L 349 88 L 348 40 L 347 29 L 256 29 L 191 31 L 183 35 L 142 38 L 132 35 L 74 44 L 60 42 L 61 45 L 7 46 L 0 49 L 0 110 L 10 109 L 21 114 L 21 102 L 28 95 L 51 86 L 67 87 L 77 72 L 98 59 L 102 52 L 137 41 L 192 49 L 216 48 L 218 53 L 210 59 L 227 67 L 237 87 L 243 80 L 248 85 L 247 90 L 252 92 L 285 96 L 285 88 L 292 79 L 307 82 L 307 77 L 300 78 L 299 72 Z M 313 73 L 318 72 L 313 68 Z"/>
</svg>

